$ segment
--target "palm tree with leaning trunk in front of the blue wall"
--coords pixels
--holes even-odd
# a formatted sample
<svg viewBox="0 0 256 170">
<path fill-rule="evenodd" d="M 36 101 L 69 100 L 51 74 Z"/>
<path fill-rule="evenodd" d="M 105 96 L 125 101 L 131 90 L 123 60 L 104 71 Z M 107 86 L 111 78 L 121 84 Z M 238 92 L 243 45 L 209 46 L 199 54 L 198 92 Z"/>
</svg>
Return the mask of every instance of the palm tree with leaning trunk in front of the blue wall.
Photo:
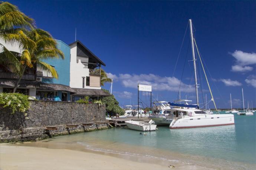
<svg viewBox="0 0 256 170">
<path fill-rule="evenodd" d="M 19 79 L 17 80 L 13 92 L 16 91 L 20 80 L 26 68 L 37 67 L 40 70 L 49 71 L 53 78 L 58 78 L 58 73 L 54 67 L 43 62 L 43 60 L 62 58 L 64 54 L 57 48 L 56 40 L 53 39 L 47 31 L 42 29 L 34 29 L 26 32 L 27 37 L 34 42 L 35 45 L 24 44 L 23 52 L 19 57 L 21 68 L 19 72 Z"/>
</svg>

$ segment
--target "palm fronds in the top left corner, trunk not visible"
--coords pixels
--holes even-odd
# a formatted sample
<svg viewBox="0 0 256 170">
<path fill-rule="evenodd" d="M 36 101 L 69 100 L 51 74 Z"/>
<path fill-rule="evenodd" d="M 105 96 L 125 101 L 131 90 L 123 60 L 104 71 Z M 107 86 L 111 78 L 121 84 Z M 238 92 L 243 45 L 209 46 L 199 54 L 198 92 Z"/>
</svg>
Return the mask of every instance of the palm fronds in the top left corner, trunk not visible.
<svg viewBox="0 0 256 170">
<path fill-rule="evenodd" d="M 35 45 L 24 34 L 25 30 L 31 30 L 35 27 L 32 18 L 27 17 L 19 11 L 19 9 L 8 2 L 0 1 L 0 39 L 11 44 L 19 44 L 20 48 L 23 44 Z M 7 50 L 3 44 L 0 53 L 0 64 L 9 69 L 11 65 L 12 72 L 20 71 L 20 62 L 17 59 L 18 53 Z"/>
</svg>

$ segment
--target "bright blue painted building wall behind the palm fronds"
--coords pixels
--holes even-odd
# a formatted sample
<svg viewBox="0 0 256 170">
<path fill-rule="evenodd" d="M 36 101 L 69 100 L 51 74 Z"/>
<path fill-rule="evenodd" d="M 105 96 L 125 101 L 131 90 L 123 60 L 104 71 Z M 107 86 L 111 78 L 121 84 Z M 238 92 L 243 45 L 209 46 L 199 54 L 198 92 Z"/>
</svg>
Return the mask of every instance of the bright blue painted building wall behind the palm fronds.
<svg viewBox="0 0 256 170">
<path fill-rule="evenodd" d="M 61 50 L 65 59 L 47 59 L 46 62 L 55 67 L 58 72 L 59 78 L 43 78 L 45 83 L 63 84 L 69 86 L 70 81 L 70 47 L 60 40 L 56 40 L 58 43 L 58 49 Z"/>
</svg>

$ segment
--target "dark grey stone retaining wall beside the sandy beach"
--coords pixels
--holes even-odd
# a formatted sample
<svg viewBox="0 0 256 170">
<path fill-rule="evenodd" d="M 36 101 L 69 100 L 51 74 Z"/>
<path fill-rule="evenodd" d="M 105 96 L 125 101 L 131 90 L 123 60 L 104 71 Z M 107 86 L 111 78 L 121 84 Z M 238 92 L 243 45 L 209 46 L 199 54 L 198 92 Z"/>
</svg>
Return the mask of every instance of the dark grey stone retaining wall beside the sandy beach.
<svg viewBox="0 0 256 170">
<path fill-rule="evenodd" d="M 27 116 L 20 112 L 10 114 L 8 108 L 0 108 L 0 142 L 40 140 L 108 128 L 102 123 L 105 122 L 105 105 L 30 101 L 26 113 Z"/>
</svg>

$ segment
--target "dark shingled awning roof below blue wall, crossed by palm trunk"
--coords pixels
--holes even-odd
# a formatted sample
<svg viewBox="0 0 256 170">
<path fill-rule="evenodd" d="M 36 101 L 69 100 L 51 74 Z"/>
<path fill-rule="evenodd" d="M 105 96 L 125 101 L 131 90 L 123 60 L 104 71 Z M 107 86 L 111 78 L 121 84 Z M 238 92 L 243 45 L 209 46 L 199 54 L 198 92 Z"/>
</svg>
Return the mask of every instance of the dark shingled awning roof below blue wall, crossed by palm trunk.
<svg viewBox="0 0 256 170">
<path fill-rule="evenodd" d="M 12 79 L 0 79 L 0 87 L 14 87 L 17 80 Z M 59 90 L 67 91 L 70 93 L 76 93 L 72 88 L 62 84 L 49 84 L 39 81 L 26 81 L 21 80 L 18 88 L 36 88 L 38 90 Z"/>
</svg>

